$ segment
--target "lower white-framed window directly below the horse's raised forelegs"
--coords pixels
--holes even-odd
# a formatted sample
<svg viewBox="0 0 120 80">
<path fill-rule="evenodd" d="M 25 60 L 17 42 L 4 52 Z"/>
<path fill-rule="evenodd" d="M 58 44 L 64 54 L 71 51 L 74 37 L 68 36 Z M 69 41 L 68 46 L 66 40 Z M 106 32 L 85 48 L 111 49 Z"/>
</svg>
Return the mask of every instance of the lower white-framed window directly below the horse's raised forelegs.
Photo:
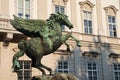
<svg viewBox="0 0 120 80">
<path fill-rule="evenodd" d="M 67 61 L 58 61 L 58 73 L 69 73 L 69 63 Z"/>
</svg>

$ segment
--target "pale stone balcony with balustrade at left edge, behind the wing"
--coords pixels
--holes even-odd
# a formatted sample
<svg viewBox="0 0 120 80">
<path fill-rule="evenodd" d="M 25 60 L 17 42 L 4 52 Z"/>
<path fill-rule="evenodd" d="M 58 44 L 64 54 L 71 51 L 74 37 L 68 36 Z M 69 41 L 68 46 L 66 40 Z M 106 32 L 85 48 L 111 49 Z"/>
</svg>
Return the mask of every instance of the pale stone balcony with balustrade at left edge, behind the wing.
<svg viewBox="0 0 120 80">
<path fill-rule="evenodd" d="M 18 36 L 21 36 L 21 38 L 24 37 L 22 33 L 18 32 L 14 27 L 12 27 L 10 24 L 10 18 L 8 16 L 0 15 L 0 41 L 3 41 L 3 45 L 8 46 L 9 42 L 15 41 L 14 39 Z"/>
</svg>

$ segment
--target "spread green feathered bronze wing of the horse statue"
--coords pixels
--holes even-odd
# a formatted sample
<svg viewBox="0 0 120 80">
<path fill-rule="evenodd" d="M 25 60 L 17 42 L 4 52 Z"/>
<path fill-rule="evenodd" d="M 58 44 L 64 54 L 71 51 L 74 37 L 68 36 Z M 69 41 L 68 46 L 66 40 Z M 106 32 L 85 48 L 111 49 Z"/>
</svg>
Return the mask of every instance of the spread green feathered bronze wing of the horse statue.
<svg viewBox="0 0 120 80">
<path fill-rule="evenodd" d="M 40 37 L 40 30 L 46 25 L 45 20 L 27 20 L 14 15 L 14 20 L 10 20 L 13 27 L 29 37 Z"/>
</svg>

